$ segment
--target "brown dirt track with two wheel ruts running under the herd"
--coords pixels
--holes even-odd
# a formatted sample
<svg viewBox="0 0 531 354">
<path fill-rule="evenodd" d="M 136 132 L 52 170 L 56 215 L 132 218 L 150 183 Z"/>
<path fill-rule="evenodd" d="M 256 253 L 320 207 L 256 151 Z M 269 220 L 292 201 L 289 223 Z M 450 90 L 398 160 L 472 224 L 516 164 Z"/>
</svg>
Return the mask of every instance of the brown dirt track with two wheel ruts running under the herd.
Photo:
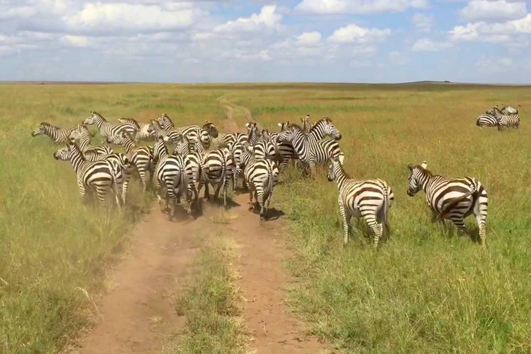
<svg viewBox="0 0 531 354">
<path fill-rule="evenodd" d="M 227 103 L 226 101 L 223 103 Z M 242 131 L 234 121 L 234 105 L 225 104 L 227 119 L 223 131 Z M 244 110 L 247 118 L 250 112 Z M 282 213 L 274 209 L 273 220 L 260 223 L 248 210 L 248 194 L 234 198 L 227 225 L 213 224 L 217 206 L 205 205 L 195 221 L 170 223 L 158 205 L 131 235 L 126 260 L 111 272 L 114 286 L 98 301 L 100 322 L 81 344 L 82 354 L 159 353 L 165 335 L 176 333 L 185 321 L 170 304 L 169 294 L 185 281 L 189 265 L 202 236 L 222 232 L 239 244 L 239 272 L 243 292 L 242 317 L 250 332 L 250 349 L 257 353 L 324 353 L 313 337 L 301 331 L 301 324 L 284 304 L 281 288 L 289 277 L 281 267 L 288 257 L 277 234 L 284 228 Z"/>
</svg>

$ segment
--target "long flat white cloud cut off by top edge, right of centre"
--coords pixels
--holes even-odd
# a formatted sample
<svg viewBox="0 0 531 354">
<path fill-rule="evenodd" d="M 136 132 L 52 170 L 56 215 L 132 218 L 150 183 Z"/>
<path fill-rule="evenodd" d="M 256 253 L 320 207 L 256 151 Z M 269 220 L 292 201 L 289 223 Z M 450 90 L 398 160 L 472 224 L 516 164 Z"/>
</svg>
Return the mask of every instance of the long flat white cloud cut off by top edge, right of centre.
<svg viewBox="0 0 531 354">
<path fill-rule="evenodd" d="M 295 12 L 308 15 L 364 14 L 400 12 L 426 6 L 427 0 L 302 0 Z"/>
</svg>

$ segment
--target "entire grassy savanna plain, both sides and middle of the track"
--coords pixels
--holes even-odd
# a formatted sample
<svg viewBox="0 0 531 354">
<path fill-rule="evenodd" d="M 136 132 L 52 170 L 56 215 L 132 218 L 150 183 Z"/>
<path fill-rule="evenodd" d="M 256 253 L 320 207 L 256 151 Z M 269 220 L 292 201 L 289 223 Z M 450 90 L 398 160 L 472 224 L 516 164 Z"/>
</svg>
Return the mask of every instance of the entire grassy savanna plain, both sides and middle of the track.
<svg viewBox="0 0 531 354">
<path fill-rule="evenodd" d="M 521 104 L 519 130 L 476 127 L 502 103 Z M 375 251 L 362 221 L 343 246 L 326 167 L 315 179 L 290 167 L 275 189 L 271 205 L 287 219 L 279 232 L 295 253 L 286 300 L 310 333 L 342 353 L 531 353 L 531 91 L 454 84 L 1 84 L 0 353 L 64 350 L 91 323 L 106 268 L 154 199 L 133 180 L 123 210 L 82 204 L 71 166 L 53 159 L 61 146 L 30 136 L 39 123 L 75 127 L 97 111 L 112 122 L 167 113 L 178 126 L 222 127 L 227 105 L 241 131 L 250 118 L 277 131 L 306 114 L 330 117 L 347 173 L 382 178 L 395 193 L 391 237 Z M 407 164 L 423 160 L 435 174 L 485 185 L 486 248 L 474 218 L 463 236 L 431 222 L 423 192 L 407 196 Z M 195 322 L 172 353 L 201 353 L 198 343 L 216 338 L 212 353 L 252 348 L 245 324 L 227 321 L 238 317 L 238 279 L 220 244 L 207 242 L 198 281 L 176 301 Z"/>
</svg>

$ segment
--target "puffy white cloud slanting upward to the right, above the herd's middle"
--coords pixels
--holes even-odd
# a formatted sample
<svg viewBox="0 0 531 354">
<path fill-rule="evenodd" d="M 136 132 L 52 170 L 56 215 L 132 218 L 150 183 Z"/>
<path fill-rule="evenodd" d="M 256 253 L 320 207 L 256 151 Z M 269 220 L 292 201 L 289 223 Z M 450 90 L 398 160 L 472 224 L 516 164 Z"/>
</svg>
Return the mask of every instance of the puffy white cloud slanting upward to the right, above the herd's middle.
<svg viewBox="0 0 531 354">
<path fill-rule="evenodd" d="M 275 12 L 276 8 L 276 6 L 263 6 L 259 14 L 228 21 L 226 24 L 216 26 L 214 32 L 255 32 L 263 28 L 277 28 L 282 15 Z"/>
</svg>

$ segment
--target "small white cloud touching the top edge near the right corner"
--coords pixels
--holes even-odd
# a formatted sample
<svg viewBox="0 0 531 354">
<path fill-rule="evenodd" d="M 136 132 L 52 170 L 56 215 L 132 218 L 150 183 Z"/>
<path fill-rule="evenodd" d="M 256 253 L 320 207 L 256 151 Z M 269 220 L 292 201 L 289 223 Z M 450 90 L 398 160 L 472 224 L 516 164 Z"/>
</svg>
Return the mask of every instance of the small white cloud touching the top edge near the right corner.
<svg viewBox="0 0 531 354">
<path fill-rule="evenodd" d="M 503 21 L 521 19 L 527 15 L 528 9 L 525 2 L 472 0 L 459 13 L 467 21 Z"/>
</svg>

